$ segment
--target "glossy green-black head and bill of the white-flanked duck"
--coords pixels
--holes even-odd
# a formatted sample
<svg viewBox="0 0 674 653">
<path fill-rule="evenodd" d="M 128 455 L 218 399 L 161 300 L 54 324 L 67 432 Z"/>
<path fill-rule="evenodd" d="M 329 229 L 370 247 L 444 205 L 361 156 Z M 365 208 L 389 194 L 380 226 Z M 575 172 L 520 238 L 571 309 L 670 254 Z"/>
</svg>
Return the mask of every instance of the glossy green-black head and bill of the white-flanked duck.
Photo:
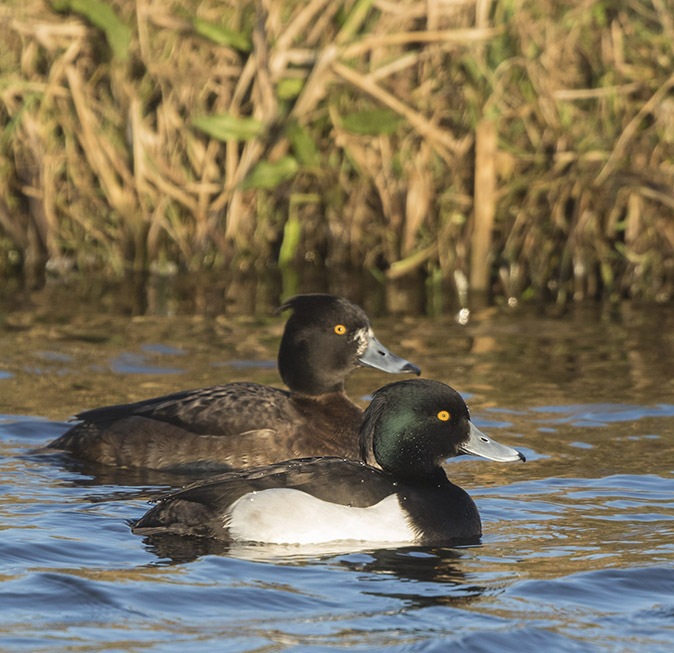
<svg viewBox="0 0 674 653">
<path fill-rule="evenodd" d="M 460 454 L 510 462 L 524 456 L 488 438 L 470 420 L 456 390 L 412 379 L 377 390 L 361 426 L 361 456 L 396 479 L 434 482 L 441 464 Z"/>
</svg>

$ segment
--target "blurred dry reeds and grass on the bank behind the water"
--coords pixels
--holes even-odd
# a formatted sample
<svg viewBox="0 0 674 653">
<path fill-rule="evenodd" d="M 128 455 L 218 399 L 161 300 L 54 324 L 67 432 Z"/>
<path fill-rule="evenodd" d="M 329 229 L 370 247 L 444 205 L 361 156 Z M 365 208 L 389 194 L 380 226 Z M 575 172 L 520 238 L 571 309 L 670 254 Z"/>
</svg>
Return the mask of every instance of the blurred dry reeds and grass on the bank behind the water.
<svg viewBox="0 0 674 653">
<path fill-rule="evenodd" d="M 671 0 L 4 0 L 0 274 L 674 292 Z"/>
</svg>

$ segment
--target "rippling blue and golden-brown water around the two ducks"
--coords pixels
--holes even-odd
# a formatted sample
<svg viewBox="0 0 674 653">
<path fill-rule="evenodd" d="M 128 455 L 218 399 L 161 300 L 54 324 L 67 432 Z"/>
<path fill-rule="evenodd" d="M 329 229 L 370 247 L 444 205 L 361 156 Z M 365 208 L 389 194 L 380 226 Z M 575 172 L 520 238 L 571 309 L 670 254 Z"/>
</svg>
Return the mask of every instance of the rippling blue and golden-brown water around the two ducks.
<svg viewBox="0 0 674 653">
<path fill-rule="evenodd" d="M 0 649 L 674 648 L 671 307 L 375 319 L 383 343 L 457 387 L 528 461 L 448 464 L 482 515 L 479 546 L 340 551 L 146 541 L 127 520 L 184 479 L 29 454 L 83 408 L 279 383 L 282 323 L 266 306 L 180 306 L 128 317 L 39 295 L 5 313 Z M 349 393 L 390 380 L 362 370 Z"/>
</svg>

